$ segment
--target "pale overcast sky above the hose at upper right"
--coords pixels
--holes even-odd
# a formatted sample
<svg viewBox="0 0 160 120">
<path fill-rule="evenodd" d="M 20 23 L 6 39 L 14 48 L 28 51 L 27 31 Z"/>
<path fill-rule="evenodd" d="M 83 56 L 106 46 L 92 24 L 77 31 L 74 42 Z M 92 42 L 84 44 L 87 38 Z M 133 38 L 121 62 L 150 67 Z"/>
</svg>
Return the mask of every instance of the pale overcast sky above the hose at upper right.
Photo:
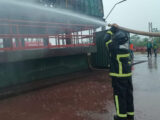
<svg viewBox="0 0 160 120">
<path fill-rule="evenodd" d="M 121 0 L 103 0 L 105 17 Z M 160 0 L 127 0 L 118 4 L 107 19 L 108 23 L 148 31 L 148 22 L 160 30 Z"/>
</svg>

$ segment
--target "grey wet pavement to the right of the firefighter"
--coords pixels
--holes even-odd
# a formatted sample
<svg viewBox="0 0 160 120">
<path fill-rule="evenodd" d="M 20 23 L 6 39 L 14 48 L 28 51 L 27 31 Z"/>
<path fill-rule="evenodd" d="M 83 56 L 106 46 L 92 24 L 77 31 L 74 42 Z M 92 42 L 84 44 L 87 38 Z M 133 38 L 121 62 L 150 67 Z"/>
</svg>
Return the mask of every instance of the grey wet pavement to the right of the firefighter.
<svg viewBox="0 0 160 120">
<path fill-rule="evenodd" d="M 160 57 L 137 54 L 135 60 L 148 60 L 133 70 L 134 102 L 137 120 L 159 120 Z"/>
</svg>

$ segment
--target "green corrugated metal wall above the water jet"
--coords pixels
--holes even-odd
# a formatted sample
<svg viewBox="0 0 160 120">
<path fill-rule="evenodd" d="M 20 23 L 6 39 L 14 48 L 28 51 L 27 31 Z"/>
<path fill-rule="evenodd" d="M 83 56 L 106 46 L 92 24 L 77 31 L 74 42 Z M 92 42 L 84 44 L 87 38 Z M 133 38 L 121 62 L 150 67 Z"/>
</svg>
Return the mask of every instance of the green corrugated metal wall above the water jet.
<svg viewBox="0 0 160 120">
<path fill-rule="evenodd" d="M 39 0 L 41 4 L 56 8 L 70 9 L 89 16 L 103 18 L 102 0 Z"/>
</svg>

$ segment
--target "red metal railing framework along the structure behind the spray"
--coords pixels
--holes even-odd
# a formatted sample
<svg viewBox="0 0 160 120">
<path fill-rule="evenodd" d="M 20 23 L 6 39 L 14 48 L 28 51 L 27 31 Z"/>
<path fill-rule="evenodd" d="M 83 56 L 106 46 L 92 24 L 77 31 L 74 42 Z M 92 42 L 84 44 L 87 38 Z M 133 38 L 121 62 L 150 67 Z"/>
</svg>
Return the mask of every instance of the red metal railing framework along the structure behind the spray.
<svg viewBox="0 0 160 120">
<path fill-rule="evenodd" d="M 42 48 L 65 48 L 65 47 L 79 47 L 79 46 L 93 46 L 94 29 L 93 25 L 80 25 L 80 24 L 64 24 L 64 23 L 51 23 L 51 22 L 41 22 L 41 21 L 25 21 L 25 20 L 9 20 L 9 19 L 0 19 L 0 29 L 1 26 L 7 27 L 8 31 L 5 34 L 0 33 L 0 39 L 3 39 L 3 48 L 0 50 L 12 51 L 12 50 L 27 50 L 27 49 L 42 49 Z M 14 31 L 13 28 L 16 28 Z M 59 31 L 68 31 L 69 34 L 57 33 L 57 34 L 20 34 L 20 28 L 29 28 L 29 29 L 43 29 L 45 28 L 46 33 L 48 29 L 59 30 Z M 80 29 L 77 29 L 80 28 Z M 2 30 L 2 29 L 1 29 Z M 15 33 L 16 32 L 16 33 Z M 15 40 L 13 40 L 13 38 Z M 24 39 L 38 39 L 41 38 L 43 41 L 47 42 L 47 45 L 41 44 L 40 41 L 37 42 L 35 46 L 29 46 L 31 44 L 29 40 Z M 4 39 L 11 42 L 11 46 L 4 47 Z M 45 39 L 45 40 L 44 40 Z M 66 44 L 67 40 L 70 40 L 70 44 Z M 88 39 L 88 42 L 84 41 Z M 55 44 L 52 44 L 51 41 L 54 40 Z M 92 40 L 92 41 L 89 41 Z M 2 41 L 2 40 L 1 40 Z M 17 43 L 15 42 L 17 41 Z M 22 45 L 24 42 L 24 45 Z M 86 42 L 86 43 L 84 43 Z M 33 43 L 33 42 L 32 42 Z"/>
</svg>

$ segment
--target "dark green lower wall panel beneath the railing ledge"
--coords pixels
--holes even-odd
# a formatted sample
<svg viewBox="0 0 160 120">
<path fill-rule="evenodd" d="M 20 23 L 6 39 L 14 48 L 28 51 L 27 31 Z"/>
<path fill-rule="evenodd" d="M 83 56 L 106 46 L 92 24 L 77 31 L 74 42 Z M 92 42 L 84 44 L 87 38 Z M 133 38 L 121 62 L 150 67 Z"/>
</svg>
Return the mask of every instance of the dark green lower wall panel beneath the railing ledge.
<svg viewBox="0 0 160 120">
<path fill-rule="evenodd" d="M 0 88 L 88 69 L 86 55 L 72 55 L 0 64 Z"/>
</svg>

